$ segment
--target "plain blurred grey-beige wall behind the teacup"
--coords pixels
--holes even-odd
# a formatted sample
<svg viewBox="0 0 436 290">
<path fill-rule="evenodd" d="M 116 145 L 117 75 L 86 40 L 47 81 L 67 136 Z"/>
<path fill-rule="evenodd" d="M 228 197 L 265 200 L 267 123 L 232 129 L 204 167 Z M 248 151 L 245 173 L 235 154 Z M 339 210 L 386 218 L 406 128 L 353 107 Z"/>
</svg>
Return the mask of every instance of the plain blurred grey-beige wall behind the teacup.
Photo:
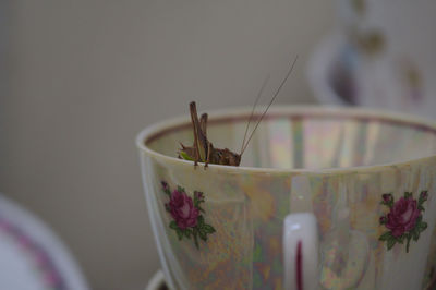
<svg viewBox="0 0 436 290">
<path fill-rule="evenodd" d="M 135 134 L 165 118 L 312 102 L 305 63 L 332 0 L 4 1 L 0 191 L 63 239 L 93 289 L 143 289 L 159 267 Z"/>
</svg>

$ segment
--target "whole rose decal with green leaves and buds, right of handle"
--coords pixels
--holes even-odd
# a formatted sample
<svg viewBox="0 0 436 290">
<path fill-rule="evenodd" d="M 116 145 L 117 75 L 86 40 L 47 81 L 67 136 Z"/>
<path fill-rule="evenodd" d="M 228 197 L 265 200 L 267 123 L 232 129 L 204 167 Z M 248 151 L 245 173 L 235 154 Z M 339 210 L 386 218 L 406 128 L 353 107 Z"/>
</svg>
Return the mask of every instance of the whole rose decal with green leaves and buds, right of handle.
<svg viewBox="0 0 436 290">
<path fill-rule="evenodd" d="M 422 191 L 419 200 L 414 200 L 411 192 L 404 192 L 397 202 L 392 194 L 383 194 L 382 204 L 389 208 L 389 213 L 380 217 L 380 225 L 388 231 L 379 237 L 379 240 L 387 243 L 391 250 L 397 243 L 405 241 L 405 252 L 409 253 L 410 241 L 417 241 L 421 232 L 427 228 L 423 221 L 422 213 L 425 210 L 424 203 L 427 201 L 427 191 Z"/>
</svg>

